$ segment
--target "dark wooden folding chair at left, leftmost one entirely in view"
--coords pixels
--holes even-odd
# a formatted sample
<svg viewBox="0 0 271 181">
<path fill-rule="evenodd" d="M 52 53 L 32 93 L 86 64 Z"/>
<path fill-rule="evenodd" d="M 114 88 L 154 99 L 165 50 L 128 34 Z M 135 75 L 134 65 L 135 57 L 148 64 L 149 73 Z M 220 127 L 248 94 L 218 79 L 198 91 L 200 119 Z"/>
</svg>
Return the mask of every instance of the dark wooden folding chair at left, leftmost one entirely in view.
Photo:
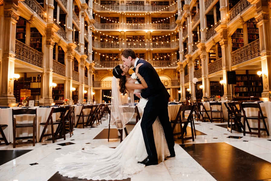
<svg viewBox="0 0 271 181">
<path fill-rule="evenodd" d="M 33 120 L 28 120 L 28 123 L 18 123 L 16 120 L 17 116 L 34 116 Z M 30 123 L 29 123 L 30 121 Z M 13 122 L 13 148 L 16 147 L 16 145 L 19 144 L 29 144 L 33 143 L 33 146 L 35 146 L 36 143 L 36 123 L 37 123 L 37 109 L 12 109 L 12 122 Z M 25 137 L 16 137 L 16 131 L 18 128 L 27 128 L 32 127 L 33 129 L 33 136 L 25 136 Z M 31 139 L 24 142 L 16 142 L 16 140 L 25 140 L 25 139 Z"/>
</svg>

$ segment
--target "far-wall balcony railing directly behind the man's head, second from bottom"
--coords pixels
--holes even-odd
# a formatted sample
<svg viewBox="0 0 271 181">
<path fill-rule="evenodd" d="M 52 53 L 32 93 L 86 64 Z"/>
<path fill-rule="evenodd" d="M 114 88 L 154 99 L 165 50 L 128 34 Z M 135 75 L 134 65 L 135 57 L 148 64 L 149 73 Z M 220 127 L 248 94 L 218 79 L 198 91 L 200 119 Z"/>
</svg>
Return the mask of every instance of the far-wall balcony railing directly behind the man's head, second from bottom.
<svg viewBox="0 0 271 181">
<path fill-rule="evenodd" d="M 148 61 L 153 67 L 177 67 L 178 61 Z M 96 68 L 113 68 L 118 64 L 123 64 L 122 61 L 95 61 Z"/>
</svg>

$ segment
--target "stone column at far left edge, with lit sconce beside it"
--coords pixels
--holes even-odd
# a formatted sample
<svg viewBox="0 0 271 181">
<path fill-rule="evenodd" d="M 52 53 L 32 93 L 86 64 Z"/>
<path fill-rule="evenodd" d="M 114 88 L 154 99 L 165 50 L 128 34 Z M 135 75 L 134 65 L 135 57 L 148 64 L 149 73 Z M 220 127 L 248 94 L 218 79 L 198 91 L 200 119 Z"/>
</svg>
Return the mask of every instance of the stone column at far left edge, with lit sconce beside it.
<svg viewBox="0 0 271 181">
<path fill-rule="evenodd" d="M 18 8 L 18 1 L 5 1 L 4 9 L 0 8 L 1 16 L 0 27 L 1 35 L 0 41 L 2 44 L 2 62 L 1 65 L 1 84 L 0 84 L 0 106 L 16 106 L 16 99 L 13 95 L 14 80 L 10 78 L 14 74 L 15 61 L 15 34 L 16 23 L 19 16 L 16 14 Z"/>
</svg>

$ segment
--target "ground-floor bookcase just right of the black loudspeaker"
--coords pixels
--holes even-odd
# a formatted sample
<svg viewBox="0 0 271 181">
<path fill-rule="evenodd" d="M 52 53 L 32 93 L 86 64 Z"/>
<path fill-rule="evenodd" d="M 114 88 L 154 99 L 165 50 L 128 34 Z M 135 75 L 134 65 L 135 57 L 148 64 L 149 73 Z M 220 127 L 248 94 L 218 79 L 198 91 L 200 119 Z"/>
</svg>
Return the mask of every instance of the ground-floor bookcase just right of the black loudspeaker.
<svg viewBox="0 0 271 181">
<path fill-rule="evenodd" d="M 256 74 L 236 75 L 234 94 L 236 97 L 261 97 L 263 92 L 263 79 Z"/>
</svg>

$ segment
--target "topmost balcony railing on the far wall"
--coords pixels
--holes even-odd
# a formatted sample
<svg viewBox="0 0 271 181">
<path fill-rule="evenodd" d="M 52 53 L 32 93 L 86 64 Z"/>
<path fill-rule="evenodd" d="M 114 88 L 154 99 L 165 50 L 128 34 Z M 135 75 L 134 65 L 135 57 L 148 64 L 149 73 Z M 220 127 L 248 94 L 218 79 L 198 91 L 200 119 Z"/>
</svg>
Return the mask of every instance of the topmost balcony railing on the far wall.
<svg viewBox="0 0 271 181">
<path fill-rule="evenodd" d="M 177 4 L 175 5 L 97 5 L 93 4 L 93 9 L 97 11 L 144 11 L 144 12 L 169 12 L 174 11 L 177 8 Z"/>
</svg>

